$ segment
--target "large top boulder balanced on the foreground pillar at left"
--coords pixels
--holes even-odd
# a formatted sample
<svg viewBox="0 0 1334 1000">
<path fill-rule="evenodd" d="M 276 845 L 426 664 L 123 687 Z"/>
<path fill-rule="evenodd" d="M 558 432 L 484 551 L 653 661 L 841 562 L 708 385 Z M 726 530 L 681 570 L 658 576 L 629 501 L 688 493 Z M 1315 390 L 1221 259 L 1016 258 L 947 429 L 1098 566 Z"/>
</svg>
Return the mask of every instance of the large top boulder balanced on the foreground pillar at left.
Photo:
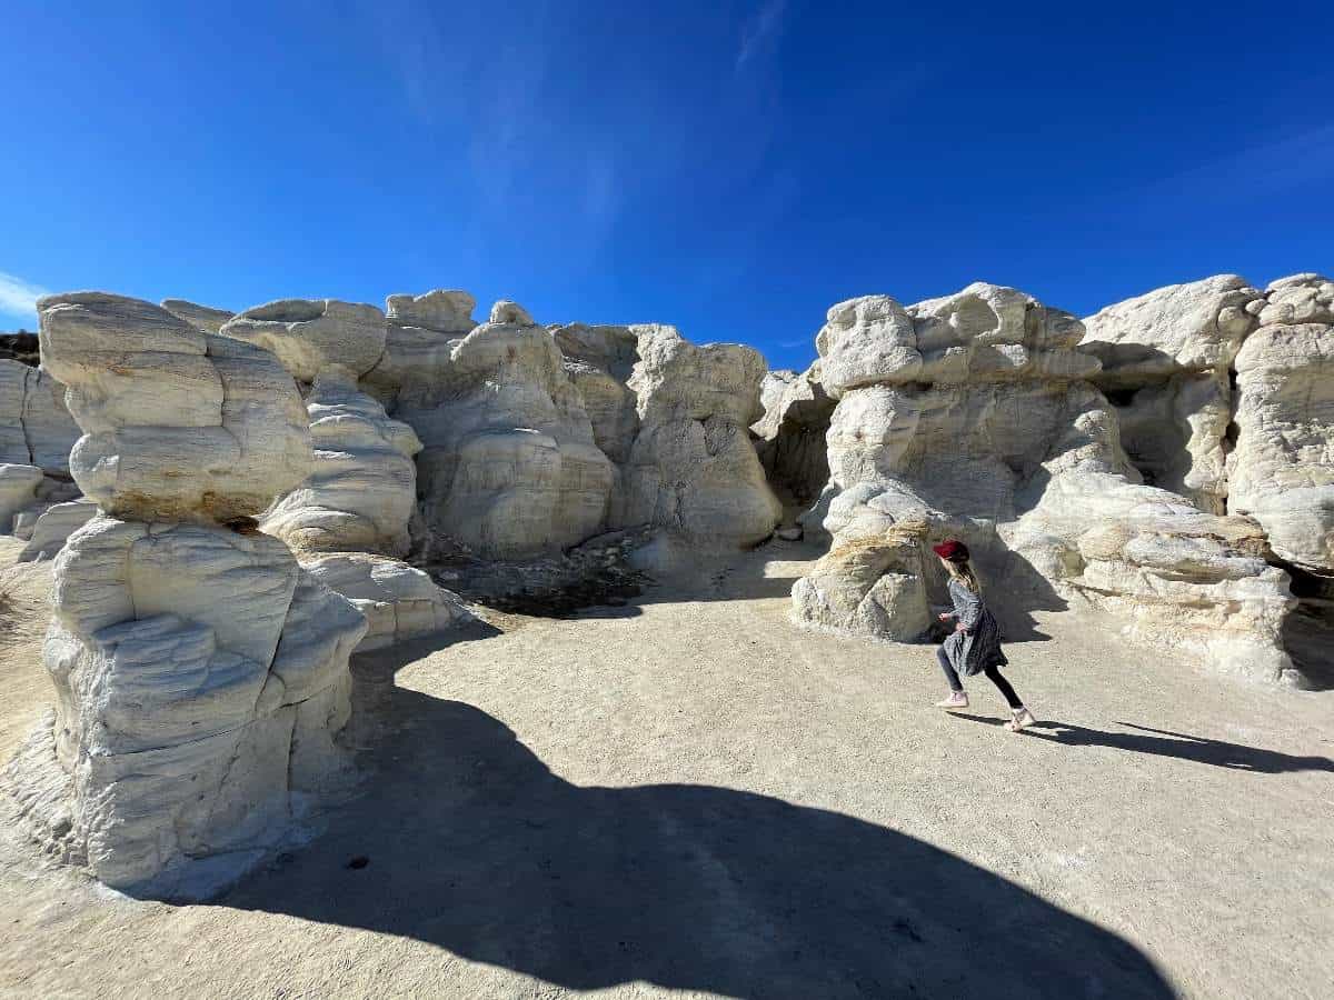
<svg viewBox="0 0 1334 1000">
<path fill-rule="evenodd" d="M 69 469 L 132 520 L 260 513 L 311 465 L 309 429 L 273 355 L 103 292 L 37 303 L 41 351 L 84 431 Z"/>
</svg>

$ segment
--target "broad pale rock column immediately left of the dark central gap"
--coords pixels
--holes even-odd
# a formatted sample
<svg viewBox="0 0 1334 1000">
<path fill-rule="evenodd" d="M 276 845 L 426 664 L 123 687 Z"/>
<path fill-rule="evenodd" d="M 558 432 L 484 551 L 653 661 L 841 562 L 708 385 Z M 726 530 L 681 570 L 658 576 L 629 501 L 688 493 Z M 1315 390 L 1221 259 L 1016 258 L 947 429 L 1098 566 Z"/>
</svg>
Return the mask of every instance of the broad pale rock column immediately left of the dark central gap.
<svg viewBox="0 0 1334 1000">
<path fill-rule="evenodd" d="M 764 359 L 742 344 L 696 347 L 675 327 L 630 329 L 639 429 L 610 525 L 651 524 L 722 548 L 768 537 L 783 508 L 748 431 L 760 416 Z"/>
</svg>

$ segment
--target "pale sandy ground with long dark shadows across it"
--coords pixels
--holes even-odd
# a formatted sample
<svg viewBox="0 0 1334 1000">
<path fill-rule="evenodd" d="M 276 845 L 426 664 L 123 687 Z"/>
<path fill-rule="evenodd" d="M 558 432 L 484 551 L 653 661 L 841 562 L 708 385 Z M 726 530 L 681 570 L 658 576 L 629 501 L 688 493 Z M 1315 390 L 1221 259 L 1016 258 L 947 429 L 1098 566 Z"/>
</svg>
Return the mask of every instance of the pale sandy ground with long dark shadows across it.
<svg viewBox="0 0 1334 1000">
<path fill-rule="evenodd" d="M 359 657 L 362 793 L 213 904 L 52 868 L 0 812 L 0 991 L 1334 995 L 1334 692 L 1038 615 L 1011 735 L 983 679 L 931 708 L 927 647 L 796 631 L 814 555 Z M 5 756 L 49 700 L 43 585 L 0 605 Z"/>
</svg>

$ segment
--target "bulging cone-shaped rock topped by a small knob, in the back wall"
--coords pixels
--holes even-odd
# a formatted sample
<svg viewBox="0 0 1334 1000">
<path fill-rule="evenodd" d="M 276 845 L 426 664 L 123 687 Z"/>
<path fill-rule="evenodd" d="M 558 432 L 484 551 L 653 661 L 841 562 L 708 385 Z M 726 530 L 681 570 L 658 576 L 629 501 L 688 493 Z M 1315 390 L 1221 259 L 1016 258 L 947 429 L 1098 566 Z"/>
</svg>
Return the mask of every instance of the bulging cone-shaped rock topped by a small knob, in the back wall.
<svg viewBox="0 0 1334 1000">
<path fill-rule="evenodd" d="M 514 303 L 459 340 L 434 392 L 400 396 L 420 436 L 427 524 L 488 559 L 558 552 L 595 535 L 615 471 L 552 336 Z"/>
</svg>

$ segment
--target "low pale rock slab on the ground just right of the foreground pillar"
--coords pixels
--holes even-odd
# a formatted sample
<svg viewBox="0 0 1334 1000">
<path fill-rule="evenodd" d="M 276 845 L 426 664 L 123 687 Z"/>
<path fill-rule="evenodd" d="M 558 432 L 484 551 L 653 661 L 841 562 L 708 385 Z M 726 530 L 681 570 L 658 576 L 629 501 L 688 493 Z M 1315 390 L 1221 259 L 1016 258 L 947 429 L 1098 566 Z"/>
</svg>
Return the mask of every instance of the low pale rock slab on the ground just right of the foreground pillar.
<svg viewBox="0 0 1334 1000">
<path fill-rule="evenodd" d="M 435 635 L 474 619 L 456 595 L 396 559 L 339 552 L 309 556 L 301 567 L 366 615 L 370 627 L 356 652 Z"/>
</svg>

